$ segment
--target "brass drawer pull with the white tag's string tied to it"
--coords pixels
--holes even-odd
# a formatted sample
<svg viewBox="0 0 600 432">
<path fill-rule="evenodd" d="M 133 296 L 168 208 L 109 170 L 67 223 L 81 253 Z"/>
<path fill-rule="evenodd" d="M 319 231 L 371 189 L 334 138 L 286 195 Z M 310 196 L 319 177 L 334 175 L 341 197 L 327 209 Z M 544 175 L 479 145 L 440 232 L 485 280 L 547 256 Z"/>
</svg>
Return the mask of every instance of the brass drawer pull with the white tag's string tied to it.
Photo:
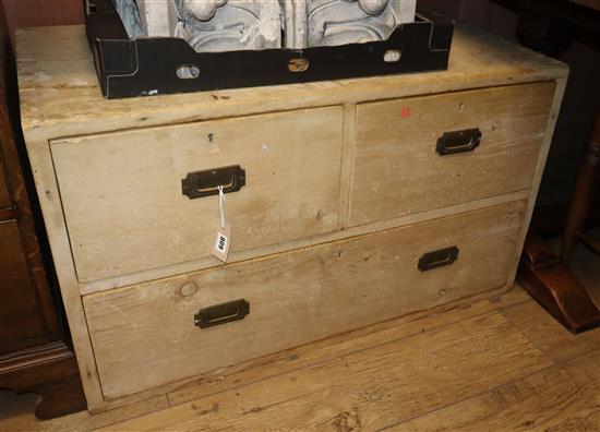
<svg viewBox="0 0 600 432">
<path fill-rule="evenodd" d="M 190 172 L 181 180 L 181 192 L 190 200 L 237 192 L 245 185 L 245 170 L 239 165 Z"/>
</svg>

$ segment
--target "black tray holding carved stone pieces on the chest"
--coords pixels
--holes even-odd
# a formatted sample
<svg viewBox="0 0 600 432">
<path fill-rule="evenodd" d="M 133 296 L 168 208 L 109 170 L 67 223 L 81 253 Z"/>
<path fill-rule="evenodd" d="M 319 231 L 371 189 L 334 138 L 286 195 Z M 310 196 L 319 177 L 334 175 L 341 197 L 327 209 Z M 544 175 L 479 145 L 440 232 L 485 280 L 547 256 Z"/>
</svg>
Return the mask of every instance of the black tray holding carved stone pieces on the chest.
<svg viewBox="0 0 600 432">
<path fill-rule="evenodd" d="M 398 26 L 384 41 L 197 53 L 175 37 L 129 39 L 111 0 L 85 0 L 85 7 L 87 39 L 107 98 L 445 70 L 454 32 L 452 20 L 418 10 L 415 23 Z M 385 61 L 389 51 L 399 60 Z M 181 68 L 197 77 L 179 77 Z"/>
</svg>

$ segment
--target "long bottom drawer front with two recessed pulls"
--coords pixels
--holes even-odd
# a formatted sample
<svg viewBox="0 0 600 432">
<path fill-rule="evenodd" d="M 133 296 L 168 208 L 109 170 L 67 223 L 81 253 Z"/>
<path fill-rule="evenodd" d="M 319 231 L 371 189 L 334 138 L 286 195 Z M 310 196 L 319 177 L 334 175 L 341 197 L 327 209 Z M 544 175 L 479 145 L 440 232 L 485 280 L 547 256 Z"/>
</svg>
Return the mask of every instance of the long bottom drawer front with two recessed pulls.
<svg viewBox="0 0 600 432">
<path fill-rule="evenodd" d="M 499 288 L 516 259 L 524 212 L 516 202 L 86 296 L 104 394 L 132 394 Z M 223 307 L 207 309 L 215 305 Z M 220 325 L 200 328 L 194 320 Z"/>
</svg>

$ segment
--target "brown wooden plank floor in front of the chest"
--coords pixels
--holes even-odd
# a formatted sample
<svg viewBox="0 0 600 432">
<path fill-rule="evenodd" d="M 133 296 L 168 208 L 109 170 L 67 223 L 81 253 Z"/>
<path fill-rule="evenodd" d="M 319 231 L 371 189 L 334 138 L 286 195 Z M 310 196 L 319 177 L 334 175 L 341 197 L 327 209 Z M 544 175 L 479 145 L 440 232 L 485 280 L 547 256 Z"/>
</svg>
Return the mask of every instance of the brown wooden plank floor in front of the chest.
<svg viewBox="0 0 600 432">
<path fill-rule="evenodd" d="M 574 267 L 600 303 L 599 263 Z M 39 422 L 35 400 L 0 393 L 0 430 L 600 431 L 600 329 L 572 336 L 517 287 L 101 415 Z"/>
</svg>

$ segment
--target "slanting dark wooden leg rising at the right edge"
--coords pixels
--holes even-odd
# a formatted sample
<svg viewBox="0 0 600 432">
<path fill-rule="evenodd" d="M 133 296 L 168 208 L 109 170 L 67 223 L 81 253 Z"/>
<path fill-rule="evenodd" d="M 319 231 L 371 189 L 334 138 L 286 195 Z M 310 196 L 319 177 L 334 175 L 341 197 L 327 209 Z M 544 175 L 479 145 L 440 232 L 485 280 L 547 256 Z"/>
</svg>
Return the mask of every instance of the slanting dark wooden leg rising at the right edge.
<svg viewBox="0 0 600 432">
<path fill-rule="evenodd" d="M 596 118 L 596 123 L 586 149 L 586 155 L 575 187 L 575 193 L 571 202 L 571 208 L 566 220 L 565 233 L 563 237 L 563 248 L 561 260 L 568 264 L 577 245 L 579 231 L 584 227 L 590 213 L 591 204 L 600 177 L 600 113 Z"/>
</svg>

